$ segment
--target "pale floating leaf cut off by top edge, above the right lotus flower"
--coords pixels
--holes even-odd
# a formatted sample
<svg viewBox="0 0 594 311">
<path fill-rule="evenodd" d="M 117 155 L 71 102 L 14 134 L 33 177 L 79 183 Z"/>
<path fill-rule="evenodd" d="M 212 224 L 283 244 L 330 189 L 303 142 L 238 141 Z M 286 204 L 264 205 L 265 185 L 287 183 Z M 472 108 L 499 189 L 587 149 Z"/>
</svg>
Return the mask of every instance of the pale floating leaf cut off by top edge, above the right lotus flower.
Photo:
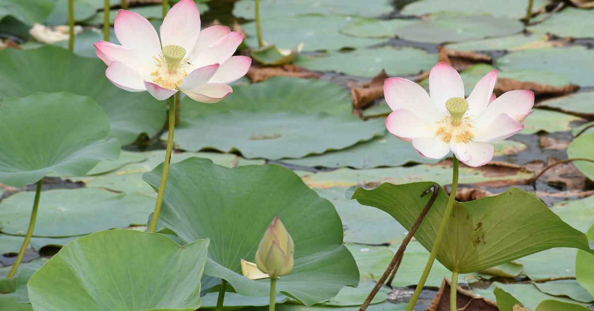
<svg viewBox="0 0 594 311">
<path fill-rule="evenodd" d="M 546 0 L 535 0 L 532 12 L 538 12 L 546 4 Z M 527 2 L 516 0 L 420 0 L 406 5 L 400 13 L 404 15 L 425 15 L 434 12 L 455 11 L 489 13 L 494 16 L 508 16 L 519 19 L 526 17 L 527 6 Z"/>
</svg>

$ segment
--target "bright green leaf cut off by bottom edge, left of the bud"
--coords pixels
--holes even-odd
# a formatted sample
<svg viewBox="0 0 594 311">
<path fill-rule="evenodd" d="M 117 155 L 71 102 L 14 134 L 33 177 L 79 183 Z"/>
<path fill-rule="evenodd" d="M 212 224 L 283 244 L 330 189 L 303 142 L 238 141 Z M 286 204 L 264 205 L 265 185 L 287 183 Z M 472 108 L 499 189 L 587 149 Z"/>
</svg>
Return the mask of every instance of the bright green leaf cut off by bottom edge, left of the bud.
<svg viewBox="0 0 594 311">
<path fill-rule="evenodd" d="M 162 234 L 100 231 L 64 246 L 27 283 L 37 311 L 200 307 L 208 239 L 180 247 Z M 90 277 L 92 276 L 92 277 Z"/>
</svg>

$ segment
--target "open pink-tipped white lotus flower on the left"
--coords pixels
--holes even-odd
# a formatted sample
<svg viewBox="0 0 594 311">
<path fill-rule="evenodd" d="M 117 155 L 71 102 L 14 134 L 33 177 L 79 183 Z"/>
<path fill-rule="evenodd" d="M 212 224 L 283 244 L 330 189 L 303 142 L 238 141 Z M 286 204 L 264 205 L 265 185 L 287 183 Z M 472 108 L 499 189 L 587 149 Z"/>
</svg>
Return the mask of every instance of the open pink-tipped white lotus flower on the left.
<svg viewBox="0 0 594 311">
<path fill-rule="evenodd" d="M 106 76 L 130 92 L 148 90 L 167 99 L 178 90 L 199 102 L 218 102 L 233 92 L 228 83 L 247 73 L 251 59 L 232 56 L 243 40 L 229 27 L 200 31 L 200 12 L 192 0 L 182 0 L 169 10 L 160 29 L 141 15 L 120 10 L 115 34 L 122 45 L 99 41 L 97 56 L 109 67 Z"/>
</svg>

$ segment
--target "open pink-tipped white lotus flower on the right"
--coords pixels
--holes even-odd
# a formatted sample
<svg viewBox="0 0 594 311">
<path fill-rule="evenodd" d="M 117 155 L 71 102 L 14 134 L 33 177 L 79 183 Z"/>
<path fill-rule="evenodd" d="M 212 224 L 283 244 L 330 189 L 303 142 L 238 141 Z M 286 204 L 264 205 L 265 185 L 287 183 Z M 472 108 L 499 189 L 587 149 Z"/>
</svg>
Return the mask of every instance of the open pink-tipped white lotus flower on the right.
<svg viewBox="0 0 594 311">
<path fill-rule="evenodd" d="M 451 150 L 470 167 L 485 165 L 493 158 L 489 143 L 522 130 L 520 122 L 534 105 L 534 93 L 527 90 L 495 99 L 495 81 L 497 70 L 482 78 L 465 99 L 462 78 L 444 62 L 429 74 L 431 97 L 413 81 L 388 78 L 384 95 L 393 112 L 386 127 L 400 140 L 412 142 L 425 158 L 441 159 Z"/>
</svg>

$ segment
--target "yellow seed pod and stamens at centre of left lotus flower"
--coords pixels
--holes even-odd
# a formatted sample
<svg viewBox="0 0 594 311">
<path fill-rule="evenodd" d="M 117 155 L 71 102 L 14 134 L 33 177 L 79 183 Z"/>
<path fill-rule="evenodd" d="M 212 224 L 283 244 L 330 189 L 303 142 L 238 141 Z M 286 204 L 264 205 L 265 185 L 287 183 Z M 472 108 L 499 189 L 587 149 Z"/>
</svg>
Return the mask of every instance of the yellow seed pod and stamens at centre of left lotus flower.
<svg viewBox="0 0 594 311">
<path fill-rule="evenodd" d="M 166 89 L 178 89 L 188 76 L 184 69 L 189 66 L 188 58 L 184 58 L 186 51 L 179 45 L 167 45 L 162 51 L 159 58 L 154 57 L 157 70 L 151 73 L 153 82 Z"/>
</svg>

